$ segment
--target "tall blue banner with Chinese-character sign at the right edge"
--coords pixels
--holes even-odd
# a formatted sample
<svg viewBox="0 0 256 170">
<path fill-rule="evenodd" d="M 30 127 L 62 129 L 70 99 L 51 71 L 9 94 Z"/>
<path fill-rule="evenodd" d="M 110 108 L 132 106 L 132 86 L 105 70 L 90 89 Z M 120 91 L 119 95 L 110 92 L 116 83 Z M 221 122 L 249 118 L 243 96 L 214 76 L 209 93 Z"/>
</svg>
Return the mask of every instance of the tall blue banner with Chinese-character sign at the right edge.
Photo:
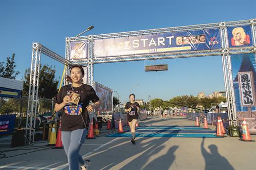
<svg viewBox="0 0 256 170">
<path fill-rule="evenodd" d="M 255 54 L 231 55 L 234 96 L 239 120 L 246 118 L 251 134 L 256 134 Z"/>
</svg>

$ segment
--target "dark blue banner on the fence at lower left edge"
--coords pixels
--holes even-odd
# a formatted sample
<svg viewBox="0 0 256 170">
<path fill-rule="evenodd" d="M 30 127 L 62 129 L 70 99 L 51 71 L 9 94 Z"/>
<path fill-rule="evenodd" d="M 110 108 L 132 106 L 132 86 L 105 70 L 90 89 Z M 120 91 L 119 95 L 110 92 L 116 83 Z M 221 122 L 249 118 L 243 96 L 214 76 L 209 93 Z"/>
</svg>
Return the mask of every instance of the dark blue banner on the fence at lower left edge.
<svg viewBox="0 0 256 170">
<path fill-rule="evenodd" d="M 12 133 L 15 125 L 16 114 L 0 115 L 0 130 L 8 130 L 0 132 L 0 135 Z"/>
</svg>

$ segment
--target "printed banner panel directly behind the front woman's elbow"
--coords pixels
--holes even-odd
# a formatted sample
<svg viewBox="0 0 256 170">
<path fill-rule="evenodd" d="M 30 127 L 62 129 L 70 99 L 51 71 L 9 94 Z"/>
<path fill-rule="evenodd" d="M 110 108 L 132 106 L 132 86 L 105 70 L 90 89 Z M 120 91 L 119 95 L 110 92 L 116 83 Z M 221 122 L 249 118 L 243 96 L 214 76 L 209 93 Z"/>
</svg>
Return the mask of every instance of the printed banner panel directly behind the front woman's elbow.
<svg viewBox="0 0 256 170">
<path fill-rule="evenodd" d="M 99 100 L 100 100 L 100 103 L 101 103 L 98 110 L 100 110 L 100 111 L 112 111 L 112 106 L 113 106 L 112 91 L 97 85 L 97 83 L 95 85 L 95 91 L 96 91 L 96 94 L 99 97 Z"/>
</svg>

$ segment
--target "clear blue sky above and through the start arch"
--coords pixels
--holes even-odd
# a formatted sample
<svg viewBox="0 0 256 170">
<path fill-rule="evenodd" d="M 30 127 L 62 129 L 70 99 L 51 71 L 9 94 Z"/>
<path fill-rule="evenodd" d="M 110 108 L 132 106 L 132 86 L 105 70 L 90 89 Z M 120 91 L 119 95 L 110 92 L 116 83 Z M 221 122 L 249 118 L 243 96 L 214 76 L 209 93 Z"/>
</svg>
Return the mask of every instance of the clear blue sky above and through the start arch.
<svg viewBox="0 0 256 170">
<path fill-rule="evenodd" d="M 31 64 L 32 42 L 65 56 L 65 37 L 90 25 L 89 34 L 199 25 L 256 17 L 256 1 L 0 1 L 0 61 L 16 54 L 21 79 Z M 42 64 L 63 65 L 42 57 Z M 168 71 L 145 72 L 144 65 L 168 64 Z M 94 80 L 116 90 L 122 103 L 130 89 L 137 99 L 168 100 L 177 95 L 224 90 L 220 56 L 97 64 Z M 116 95 L 116 94 L 115 94 Z"/>
</svg>

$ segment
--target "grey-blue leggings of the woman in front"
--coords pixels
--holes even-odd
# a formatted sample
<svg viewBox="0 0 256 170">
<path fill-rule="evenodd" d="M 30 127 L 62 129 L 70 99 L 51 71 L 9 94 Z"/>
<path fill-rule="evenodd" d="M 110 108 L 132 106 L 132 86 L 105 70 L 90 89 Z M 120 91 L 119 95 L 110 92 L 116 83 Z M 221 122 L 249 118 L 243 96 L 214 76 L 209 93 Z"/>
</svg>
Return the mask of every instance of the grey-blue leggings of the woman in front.
<svg viewBox="0 0 256 170">
<path fill-rule="evenodd" d="M 69 170 L 78 170 L 84 161 L 79 154 L 82 143 L 86 140 L 87 129 L 77 129 L 74 131 L 61 131 L 61 141 L 65 153 L 68 157 Z"/>
</svg>

